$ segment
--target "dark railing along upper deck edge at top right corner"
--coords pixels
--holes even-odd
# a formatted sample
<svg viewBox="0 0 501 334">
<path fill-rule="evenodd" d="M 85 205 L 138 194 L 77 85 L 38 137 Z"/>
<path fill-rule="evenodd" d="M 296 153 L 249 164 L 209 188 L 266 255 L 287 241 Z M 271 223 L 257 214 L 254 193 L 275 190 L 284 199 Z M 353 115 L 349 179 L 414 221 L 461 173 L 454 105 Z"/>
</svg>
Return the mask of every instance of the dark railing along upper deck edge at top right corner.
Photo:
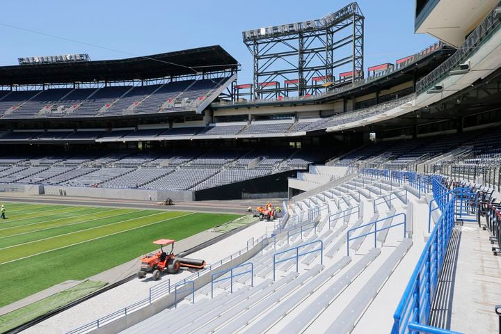
<svg viewBox="0 0 501 334">
<path fill-rule="evenodd" d="M 479 45 L 500 25 L 500 20 L 496 17 L 495 10 L 501 6 L 501 2 L 497 3 L 491 13 L 477 26 L 477 28 L 468 35 L 468 38 L 463 42 L 463 45 L 446 61 L 438 65 L 426 77 L 416 83 L 416 92 L 422 93 L 427 88 L 433 86 L 438 80 L 449 74 L 450 70 L 459 66 L 466 61 L 468 57 L 477 51 Z"/>
</svg>

